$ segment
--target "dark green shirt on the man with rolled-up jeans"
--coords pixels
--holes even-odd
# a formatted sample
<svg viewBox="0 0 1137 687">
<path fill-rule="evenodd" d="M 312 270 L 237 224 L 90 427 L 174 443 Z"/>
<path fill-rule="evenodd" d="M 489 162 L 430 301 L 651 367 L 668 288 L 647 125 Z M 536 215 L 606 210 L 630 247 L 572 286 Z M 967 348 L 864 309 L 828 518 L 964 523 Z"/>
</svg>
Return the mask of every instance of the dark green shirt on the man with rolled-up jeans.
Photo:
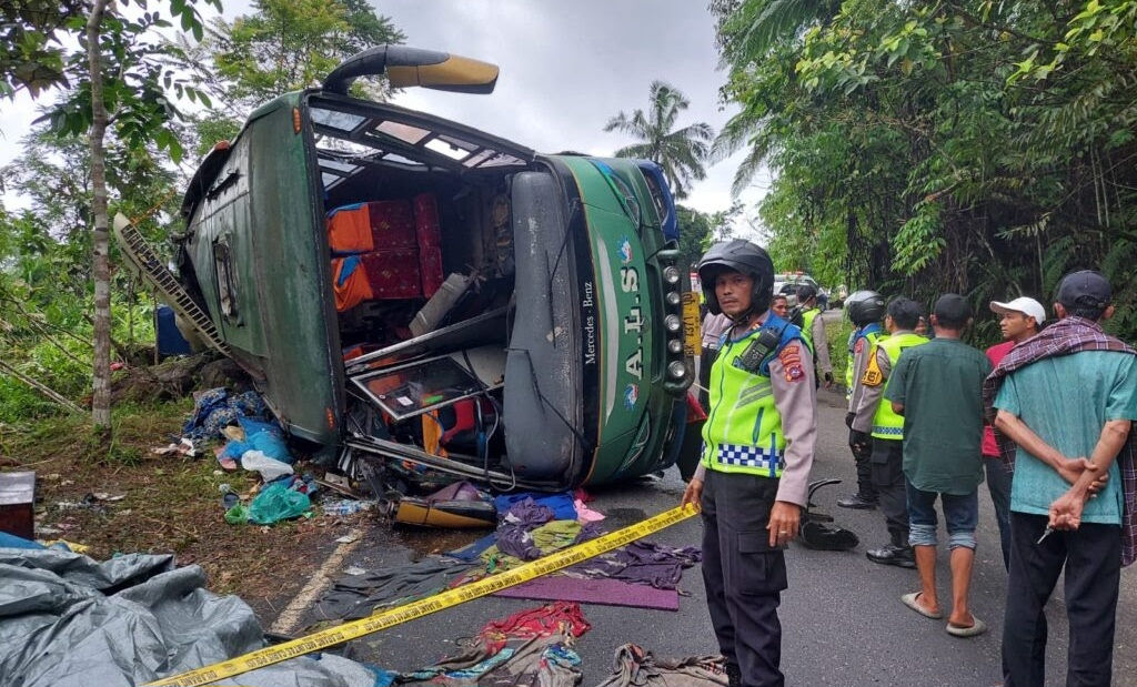
<svg viewBox="0 0 1137 687">
<path fill-rule="evenodd" d="M 901 354 L 882 403 L 904 404 L 904 475 L 923 491 L 971 494 L 984 481 L 984 380 L 991 364 L 957 339 Z"/>
</svg>

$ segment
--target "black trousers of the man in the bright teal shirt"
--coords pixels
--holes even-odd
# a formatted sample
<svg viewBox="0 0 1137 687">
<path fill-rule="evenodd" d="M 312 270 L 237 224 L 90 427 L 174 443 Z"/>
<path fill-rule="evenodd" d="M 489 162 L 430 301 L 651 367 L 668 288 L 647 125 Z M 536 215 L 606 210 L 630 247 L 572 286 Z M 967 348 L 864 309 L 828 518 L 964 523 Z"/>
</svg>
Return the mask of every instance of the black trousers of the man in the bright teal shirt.
<svg viewBox="0 0 1137 687">
<path fill-rule="evenodd" d="M 1045 515 L 1011 512 L 1011 570 L 1003 622 L 1005 687 L 1046 684 L 1043 607 L 1065 568 L 1070 620 L 1067 687 L 1109 687 L 1121 581 L 1120 525 L 1084 523 L 1052 532 L 1041 544 Z"/>
</svg>

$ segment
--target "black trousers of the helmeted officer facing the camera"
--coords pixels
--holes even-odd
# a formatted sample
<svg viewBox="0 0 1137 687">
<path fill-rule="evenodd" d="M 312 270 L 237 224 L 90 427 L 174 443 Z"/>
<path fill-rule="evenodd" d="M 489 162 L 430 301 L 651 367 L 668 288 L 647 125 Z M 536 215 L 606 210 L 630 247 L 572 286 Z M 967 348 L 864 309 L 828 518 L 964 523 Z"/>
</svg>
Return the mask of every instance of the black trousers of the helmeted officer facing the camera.
<svg viewBox="0 0 1137 687">
<path fill-rule="evenodd" d="M 786 556 L 770 547 L 778 480 L 708 470 L 703 485 L 703 581 L 719 648 L 742 687 L 782 687 L 778 606 Z"/>
</svg>

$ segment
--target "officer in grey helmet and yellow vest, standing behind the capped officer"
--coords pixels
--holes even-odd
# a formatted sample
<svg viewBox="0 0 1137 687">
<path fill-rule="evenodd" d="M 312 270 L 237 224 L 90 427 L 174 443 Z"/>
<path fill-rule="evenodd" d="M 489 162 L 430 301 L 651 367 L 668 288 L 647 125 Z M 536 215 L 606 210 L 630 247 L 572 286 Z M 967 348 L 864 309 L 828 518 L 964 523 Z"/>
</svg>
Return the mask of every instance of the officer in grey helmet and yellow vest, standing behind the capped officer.
<svg viewBox="0 0 1137 687">
<path fill-rule="evenodd" d="M 863 392 L 861 375 L 868 366 L 869 351 L 877 341 L 888 336 L 880 323 L 885 318 L 885 297 L 875 291 L 855 291 L 845 299 L 845 312 L 855 328 L 849 334 L 849 357 L 845 366 L 845 388 L 849 390 L 845 424 L 852 429 L 856 406 Z M 856 463 L 856 494 L 838 500 L 837 505 L 843 508 L 875 508 L 877 488 L 872 485 L 872 465 L 869 463 L 871 446 L 866 442 L 849 441 L 849 448 Z"/>
</svg>

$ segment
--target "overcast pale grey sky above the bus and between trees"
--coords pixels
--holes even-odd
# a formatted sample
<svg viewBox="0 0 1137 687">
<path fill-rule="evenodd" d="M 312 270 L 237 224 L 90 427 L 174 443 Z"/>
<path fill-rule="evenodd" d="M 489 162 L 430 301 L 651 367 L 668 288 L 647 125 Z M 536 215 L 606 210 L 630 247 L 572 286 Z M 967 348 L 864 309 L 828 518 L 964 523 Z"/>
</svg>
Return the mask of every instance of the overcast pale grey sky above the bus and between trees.
<svg viewBox="0 0 1137 687">
<path fill-rule="evenodd" d="M 248 3 L 224 0 L 225 15 L 248 14 Z M 632 142 L 605 133 L 609 117 L 648 106 L 653 80 L 675 86 L 690 108 L 680 126 L 707 122 L 717 131 L 737 111 L 723 110 L 714 25 L 705 0 L 372 0 L 391 17 L 406 44 L 495 63 L 501 68 L 491 96 L 407 89 L 405 107 L 456 119 L 542 152 L 578 150 L 611 155 Z M 33 117 L 26 100 L 0 107 L 0 164 Z M 687 205 L 728 209 L 738 157 L 692 185 Z M 769 185 L 755 180 L 742 196 L 754 202 Z M 741 226 L 739 227 L 742 229 Z"/>
</svg>

